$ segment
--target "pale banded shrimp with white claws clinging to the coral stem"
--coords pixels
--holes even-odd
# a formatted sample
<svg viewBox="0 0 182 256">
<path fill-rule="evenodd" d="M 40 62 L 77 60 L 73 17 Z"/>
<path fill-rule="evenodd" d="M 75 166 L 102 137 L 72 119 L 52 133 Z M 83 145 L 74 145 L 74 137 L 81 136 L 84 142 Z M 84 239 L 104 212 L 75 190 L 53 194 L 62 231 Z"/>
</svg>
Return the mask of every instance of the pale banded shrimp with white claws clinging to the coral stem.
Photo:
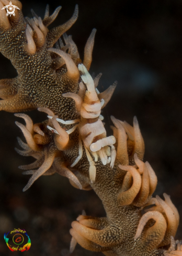
<svg viewBox="0 0 182 256">
<path fill-rule="evenodd" d="M 92 76 L 88 73 L 86 67 L 83 64 L 78 65 L 78 70 L 81 72 L 81 78 L 87 87 L 87 90 L 83 82 L 79 83 L 79 92 L 76 93 L 64 93 L 63 97 L 73 98 L 76 104 L 77 112 L 80 114 L 80 119 L 64 121 L 56 118 L 58 122 L 64 125 L 75 125 L 69 133 L 73 132 L 76 127 L 79 131 L 79 154 L 76 160 L 72 163 L 71 167 L 75 166 L 82 158 L 83 148 L 86 151 L 87 159 L 89 161 L 89 177 L 90 181 L 94 182 L 96 177 L 95 162 L 98 161 L 98 157 L 101 162 L 106 165 L 110 163 L 110 167 L 113 168 L 116 159 L 116 150 L 113 144 L 116 143 L 114 136 L 106 137 L 106 130 L 102 122 L 103 116 L 100 115 L 101 108 L 106 106 L 113 91 L 116 88 L 116 84 L 111 85 L 104 93 L 99 93 L 97 88 L 99 76 L 96 77 L 95 83 Z M 51 116 L 48 116 L 52 118 Z M 48 126 L 48 129 L 59 133 L 58 130 Z M 94 160 L 92 158 L 94 157 Z"/>
</svg>

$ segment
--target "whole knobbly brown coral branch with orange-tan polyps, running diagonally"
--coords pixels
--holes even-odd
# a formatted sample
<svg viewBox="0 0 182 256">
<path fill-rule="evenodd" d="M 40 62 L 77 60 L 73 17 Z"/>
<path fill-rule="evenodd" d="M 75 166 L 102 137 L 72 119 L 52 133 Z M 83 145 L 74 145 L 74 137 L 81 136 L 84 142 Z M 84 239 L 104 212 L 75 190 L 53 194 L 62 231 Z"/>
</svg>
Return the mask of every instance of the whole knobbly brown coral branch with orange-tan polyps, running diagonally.
<svg viewBox="0 0 182 256">
<path fill-rule="evenodd" d="M 179 214 L 170 197 L 152 197 L 157 177 L 152 166 L 143 162 L 144 141 L 137 117 L 133 126 L 111 116 L 114 126 L 107 135 L 101 109 L 106 106 L 116 83 L 105 92 L 97 90 L 100 74 L 88 70 L 96 29 L 85 46 L 84 60 L 76 44 L 65 32 L 75 23 L 78 7 L 65 24 L 48 29 L 61 7 L 41 19 L 24 18 L 21 4 L 15 16 L 6 16 L 0 1 L 0 50 L 9 58 L 18 76 L 0 81 L 0 109 L 23 112 L 37 109 L 47 114 L 42 123 L 33 124 L 26 114 L 15 114 L 26 125 L 16 122 L 26 143 L 18 138 L 22 150 L 35 162 L 20 166 L 32 175 L 26 191 L 41 175 L 59 173 L 79 189 L 93 190 L 100 197 L 106 217 L 78 216 L 72 222 L 71 252 L 76 243 L 108 256 L 181 255 L 181 241 L 174 236 Z M 32 186 L 33 189 L 33 186 Z"/>
</svg>

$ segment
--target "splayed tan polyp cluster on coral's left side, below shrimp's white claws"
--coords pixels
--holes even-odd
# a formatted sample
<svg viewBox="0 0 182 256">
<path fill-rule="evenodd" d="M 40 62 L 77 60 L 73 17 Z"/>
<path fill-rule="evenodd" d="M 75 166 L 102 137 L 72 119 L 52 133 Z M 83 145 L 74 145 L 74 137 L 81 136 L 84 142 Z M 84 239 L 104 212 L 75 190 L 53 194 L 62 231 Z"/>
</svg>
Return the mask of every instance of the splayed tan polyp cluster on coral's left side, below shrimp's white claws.
<svg viewBox="0 0 182 256">
<path fill-rule="evenodd" d="M 52 114 L 52 112 L 48 109 L 40 108 L 39 110 Z M 16 125 L 22 130 L 27 140 L 26 144 L 22 142 L 20 138 L 18 138 L 18 142 L 24 150 L 22 151 L 16 149 L 16 151 L 21 155 L 31 156 L 36 159 L 36 161 L 32 164 L 19 166 L 20 169 L 28 170 L 23 174 L 32 174 L 31 179 L 23 191 L 26 191 L 41 175 L 52 175 L 55 172 L 61 174 L 62 176 L 66 176 L 79 188 L 82 188 L 82 185 L 79 183 L 77 177 L 66 167 L 58 148 L 55 146 L 48 146 L 51 144 L 51 138 L 46 135 L 43 130 L 41 130 L 39 124 L 33 125 L 32 120 L 28 115 L 15 115 L 24 118 L 26 121 L 26 126 L 18 122 L 16 122 Z M 43 147 L 43 145 L 47 147 Z M 38 168 L 38 170 L 29 170 L 36 168 Z"/>
</svg>

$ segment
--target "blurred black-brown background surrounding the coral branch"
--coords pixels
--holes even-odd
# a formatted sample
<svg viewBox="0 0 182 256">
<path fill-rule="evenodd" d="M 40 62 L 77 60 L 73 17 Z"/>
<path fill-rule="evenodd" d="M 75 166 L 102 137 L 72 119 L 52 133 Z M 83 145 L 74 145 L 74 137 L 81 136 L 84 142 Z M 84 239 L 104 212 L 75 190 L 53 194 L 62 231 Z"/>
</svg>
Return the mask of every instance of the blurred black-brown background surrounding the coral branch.
<svg viewBox="0 0 182 256">
<path fill-rule="evenodd" d="M 83 59 L 86 40 L 97 28 L 90 73 L 103 73 L 98 89 L 103 91 L 115 80 L 117 89 L 103 115 L 132 124 L 136 115 L 145 141 L 144 161 L 149 161 L 158 177 L 155 194 L 169 194 L 182 216 L 182 2 L 180 0 L 121 1 L 22 1 L 22 11 L 30 8 L 43 17 L 45 5 L 50 13 L 62 5 L 53 26 L 63 24 L 79 5 L 79 17 L 67 32 L 73 35 Z M 0 56 L 0 78 L 16 76 L 9 60 Z M 30 113 L 39 123 L 45 115 Z M 12 113 L 0 113 L 0 255 L 12 255 L 3 239 L 4 232 L 24 228 L 32 245 L 25 255 L 69 256 L 71 222 L 81 214 L 105 216 L 93 191 L 79 191 L 59 175 L 41 176 L 25 193 L 29 177 L 21 175 L 19 165 L 33 161 L 14 151 L 16 137 L 22 137 Z M 23 120 L 18 120 L 23 123 Z M 182 239 L 182 221 L 176 239 Z M 21 255 L 20 252 L 15 252 Z M 99 253 L 97 253 L 99 255 Z M 96 255 L 77 246 L 74 256 Z M 101 253 L 100 253 L 101 255 Z"/>
</svg>

